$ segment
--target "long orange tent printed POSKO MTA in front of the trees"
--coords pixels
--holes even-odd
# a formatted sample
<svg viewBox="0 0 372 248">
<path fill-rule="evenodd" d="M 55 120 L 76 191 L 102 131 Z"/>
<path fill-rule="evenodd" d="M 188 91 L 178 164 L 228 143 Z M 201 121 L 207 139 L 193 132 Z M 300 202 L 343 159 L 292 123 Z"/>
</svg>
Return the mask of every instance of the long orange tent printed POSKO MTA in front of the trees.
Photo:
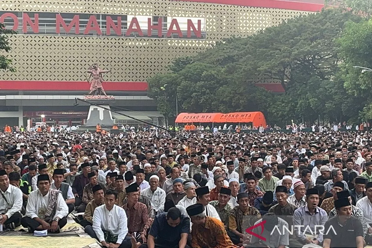
<svg viewBox="0 0 372 248">
<path fill-rule="evenodd" d="M 180 113 L 176 123 L 252 123 L 253 126 L 266 127 L 266 119 L 262 112 L 233 113 Z"/>
</svg>

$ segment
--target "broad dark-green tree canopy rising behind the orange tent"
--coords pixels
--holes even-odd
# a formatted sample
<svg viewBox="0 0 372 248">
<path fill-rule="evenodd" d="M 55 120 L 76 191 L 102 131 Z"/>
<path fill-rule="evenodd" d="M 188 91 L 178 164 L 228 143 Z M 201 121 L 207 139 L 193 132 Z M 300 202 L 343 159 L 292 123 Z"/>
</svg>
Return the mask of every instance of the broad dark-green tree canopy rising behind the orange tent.
<svg viewBox="0 0 372 248">
<path fill-rule="evenodd" d="M 349 74 L 343 72 L 350 70 L 347 63 L 356 63 L 351 57 L 346 60 L 347 53 L 358 50 L 351 46 L 355 44 L 352 39 L 357 39 L 351 29 L 365 22 L 371 24 L 345 9 L 329 8 L 247 38 L 225 39 L 203 53 L 175 59 L 169 73 L 148 79 L 148 96 L 158 101 L 159 111 L 167 118 L 176 115 L 177 96 L 178 112 L 262 111 L 271 124 L 299 123 L 302 118 L 308 122 L 318 118 L 357 121 L 364 98 L 356 85 L 348 86 Z M 344 33 L 349 29 L 350 40 L 346 41 Z M 370 41 L 369 29 L 365 39 Z M 357 60 L 359 54 L 353 56 Z M 368 61 L 359 64 L 366 66 Z M 369 76 L 372 80 L 372 73 L 360 77 Z M 285 93 L 256 85 L 270 82 L 280 83 Z"/>
</svg>

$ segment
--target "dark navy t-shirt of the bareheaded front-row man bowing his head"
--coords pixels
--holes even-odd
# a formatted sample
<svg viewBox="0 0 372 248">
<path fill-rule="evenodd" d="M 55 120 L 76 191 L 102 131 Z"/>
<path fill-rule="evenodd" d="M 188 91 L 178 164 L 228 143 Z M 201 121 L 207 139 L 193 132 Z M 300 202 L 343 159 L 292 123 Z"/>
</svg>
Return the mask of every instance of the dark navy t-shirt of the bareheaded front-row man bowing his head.
<svg viewBox="0 0 372 248">
<path fill-rule="evenodd" d="M 173 247 L 181 240 L 181 233 L 190 232 L 189 217 L 181 217 L 181 222 L 176 227 L 171 227 L 166 219 L 167 213 L 161 213 L 155 217 L 153 225 L 148 234 L 155 237 L 155 244 Z"/>
</svg>

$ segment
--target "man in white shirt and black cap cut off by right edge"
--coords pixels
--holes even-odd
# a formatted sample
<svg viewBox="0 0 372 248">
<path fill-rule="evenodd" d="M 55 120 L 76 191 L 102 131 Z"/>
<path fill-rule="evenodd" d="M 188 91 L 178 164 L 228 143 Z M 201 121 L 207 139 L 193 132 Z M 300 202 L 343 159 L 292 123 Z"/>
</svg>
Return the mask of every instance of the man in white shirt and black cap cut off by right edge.
<svg viewBox="0 0 372 248">
<path fill-rule="evenodd" d="M 368 234 L 366 236 L 367 244 L 371 242 L 372 236 L 372 182 L 366 184 L 366 196 L 357 201 L 356 207 L 363 211 L 364 220 L 367 223 Z"/>
</svg>

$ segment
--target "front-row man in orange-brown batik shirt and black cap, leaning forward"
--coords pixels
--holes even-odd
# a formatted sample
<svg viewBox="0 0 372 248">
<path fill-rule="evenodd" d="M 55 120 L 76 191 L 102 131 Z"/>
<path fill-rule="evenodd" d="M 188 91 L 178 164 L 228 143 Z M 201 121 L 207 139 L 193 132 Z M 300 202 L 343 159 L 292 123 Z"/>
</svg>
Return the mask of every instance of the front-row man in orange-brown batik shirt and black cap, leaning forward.
<svg viewBox="0 0 372 248">
<path fill-rule="evenodd" d="M 205 216 L 203 204 L 193 204 L 186 208 L 191 222 L 191 247 L 193 248 L 236 248 L 227 235 L 221 220 Z"/>
</svg>

